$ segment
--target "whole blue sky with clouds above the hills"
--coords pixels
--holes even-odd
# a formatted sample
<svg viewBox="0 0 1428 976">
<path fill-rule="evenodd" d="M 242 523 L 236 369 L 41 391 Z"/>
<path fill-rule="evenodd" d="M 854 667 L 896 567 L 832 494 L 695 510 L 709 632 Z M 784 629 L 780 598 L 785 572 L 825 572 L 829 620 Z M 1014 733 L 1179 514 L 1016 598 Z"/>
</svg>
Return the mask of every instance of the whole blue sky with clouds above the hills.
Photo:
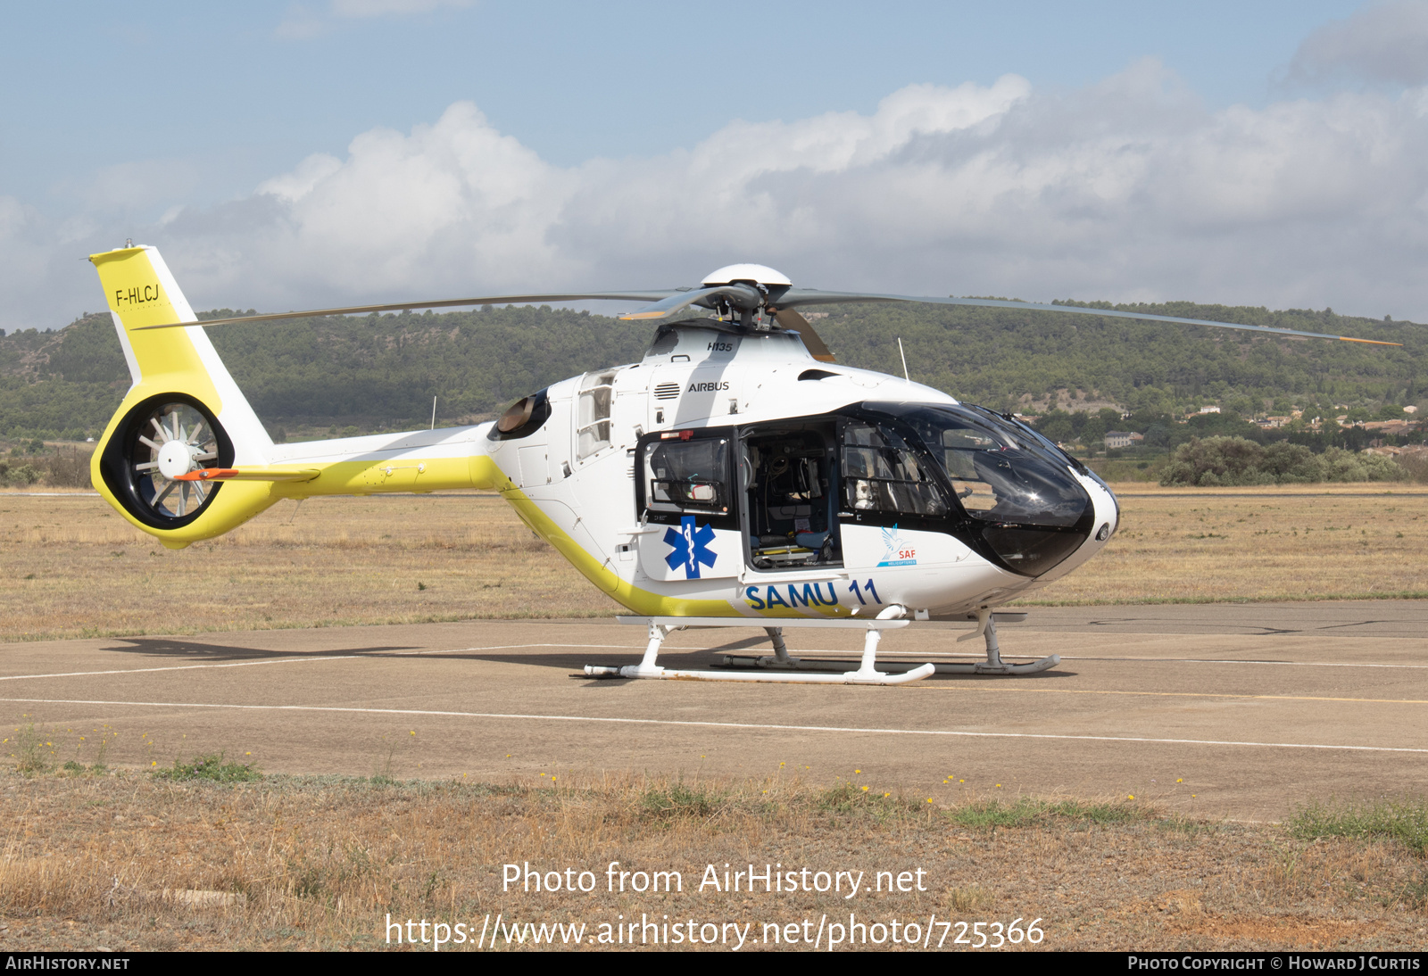
<svg viewBox="0 0 1428 976">
<path fill-rule="evenodd" d="M 1428 0 L 26 4 L 0 328 L 797 285 L 1428 322 Z M 614 311 L 614 310 L 611 310 Z"/>
</svg>

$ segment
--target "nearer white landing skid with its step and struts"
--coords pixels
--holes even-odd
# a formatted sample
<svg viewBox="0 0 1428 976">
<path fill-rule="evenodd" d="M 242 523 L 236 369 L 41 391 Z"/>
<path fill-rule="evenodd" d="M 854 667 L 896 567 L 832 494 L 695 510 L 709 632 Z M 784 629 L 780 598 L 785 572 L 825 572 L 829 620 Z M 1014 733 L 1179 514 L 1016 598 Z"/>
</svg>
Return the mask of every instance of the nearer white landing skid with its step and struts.
<svg viewBox="0 0 1428 976">
<path fill-rule="evenodd" d="M 895 611 L 895 614 L 892 612 Z M 890 616 L 900 616 L 904 614 L 904 608 L 894 606 L 884 611 Z M 747 619 L 731 619 L 725 616 L 620 616 L 615 618 L 621 624 L 644 625 L 650 629 L 650 642 L 645 645 L 644 658 L 637 665 L 624 666 L 605 666 L 605 665 L 585 665 L 585 673 L 591 678 L 660 678 L 664 681 L 761 681 L 761 682 L 778 682 L 790 685 L 907 685 L 914 681 L 921 681 L 935 672 L 935 665 L 920 665 L 917 668 L 904 669 L 900 673 L 885 672 L 877 669 L 877 649 L 878 642 L 883 639 L 883 631 L 894 631 L 904 628 L 910 621 L 901 619 L 831 619 L 831 621 L 780 621 L 778 626 L 767 626 L 763 622 L 751 622 Z M 778 655 L 775 659 L 783 659 L 794 664 L 797 659 L 788 656 L 788 648 L 784 645 L 783 631 L 785 626 L 793 628 L 810 628 L 810 629 L 855 629 L 865 631 L 867 635 L 863 639 L 863 659 L 858 664 L 857 671 L 843 671 L 845 665 L 838 668 L 827 668 L 821 671 L 843 671 L 843 673 L 807 673 L 804 671 L 677 671 L 673 668 L 661 668 L 655 664 L 655 658 L 660 654 L 660 648 L 665 638 L 674 631 L 684 629 L 685 626 L 758 626 L 764 629 L 768 636 L 774 641 L 774 652 Z M 834 664 L 834 662 L 828 662 Z"/>
</svg>

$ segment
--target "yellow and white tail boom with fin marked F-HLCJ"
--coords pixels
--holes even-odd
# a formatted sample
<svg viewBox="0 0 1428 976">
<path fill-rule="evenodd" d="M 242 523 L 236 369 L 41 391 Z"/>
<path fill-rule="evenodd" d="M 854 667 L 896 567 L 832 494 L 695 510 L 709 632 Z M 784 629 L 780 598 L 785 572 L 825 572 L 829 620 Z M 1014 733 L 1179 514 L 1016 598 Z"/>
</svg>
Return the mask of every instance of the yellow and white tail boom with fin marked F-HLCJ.
<svg viewBox="0 0 1428 976">
<path fill-rule="evenodd" d="M 159 251 L 91 254 L 133 385 L 100 438 L 94 487 L 170 548 L 213 538 L 283 498 L 510 489 L 490 424 L 273 444 Z M 194 322 L 150 328 L 166 322 Z"/>
</svg>

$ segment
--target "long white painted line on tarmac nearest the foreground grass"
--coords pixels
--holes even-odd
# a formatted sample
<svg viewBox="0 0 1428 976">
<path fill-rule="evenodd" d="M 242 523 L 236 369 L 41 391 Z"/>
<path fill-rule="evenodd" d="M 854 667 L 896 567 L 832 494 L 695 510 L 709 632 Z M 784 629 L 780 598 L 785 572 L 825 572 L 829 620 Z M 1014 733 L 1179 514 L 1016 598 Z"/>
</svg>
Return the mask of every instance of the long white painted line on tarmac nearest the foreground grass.
<svg viewBox="0 0 1428 976">
<path fill-rule="evenodd" d="M 24 705 L 121 705 L 126 708 L 207 708 L 240 712 L 341 712 L 356 715 L 424 715 L 428 718 L 516 719 L 527 722 L 601 722 L 610 725 L 673 725 L 698 729 L 753 729 L 768 732 L 851 732 L 855 735 L 935 735 L 968 739 L 1061 739 L 1072 742 L 1147 742 L 1151 745 L 1247 746 L 1255 749 L 1319 749 L 1339 752 L 1412 752 L 1407 746 L 1322 745 L 1317 742 L 1237 742 L 1224 739 L 1152 739 L 1137 735 L 1060 735 L 1054 732 L 958 732 L 952 729 L 878 729 L 843 725 L 765 725 L 761 722 L 691 722 L 678 719 L 601 718 L 594 715 L 518 715 L 501 712 L 441 712 L 416 708 L 351 708 L 340 705 L 218 705 L 211 702 L 110 702 L 67 698 L 0 698 Z"/>
</svg>

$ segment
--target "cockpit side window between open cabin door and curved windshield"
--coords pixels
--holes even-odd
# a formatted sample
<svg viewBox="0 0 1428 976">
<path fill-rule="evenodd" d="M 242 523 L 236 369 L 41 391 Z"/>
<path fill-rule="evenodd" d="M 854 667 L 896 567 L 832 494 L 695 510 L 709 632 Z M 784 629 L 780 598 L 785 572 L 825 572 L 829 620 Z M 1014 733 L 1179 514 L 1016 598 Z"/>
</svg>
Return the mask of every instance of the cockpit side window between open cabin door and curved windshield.
<svg viewBox="0 0 1428 976">
<path fill-rule="evenodd" d="M 843 427 L 843 508 L 945 515 L 950 507 L 920 454 L 895 431 L 850 420 Z"/>
</svg>

